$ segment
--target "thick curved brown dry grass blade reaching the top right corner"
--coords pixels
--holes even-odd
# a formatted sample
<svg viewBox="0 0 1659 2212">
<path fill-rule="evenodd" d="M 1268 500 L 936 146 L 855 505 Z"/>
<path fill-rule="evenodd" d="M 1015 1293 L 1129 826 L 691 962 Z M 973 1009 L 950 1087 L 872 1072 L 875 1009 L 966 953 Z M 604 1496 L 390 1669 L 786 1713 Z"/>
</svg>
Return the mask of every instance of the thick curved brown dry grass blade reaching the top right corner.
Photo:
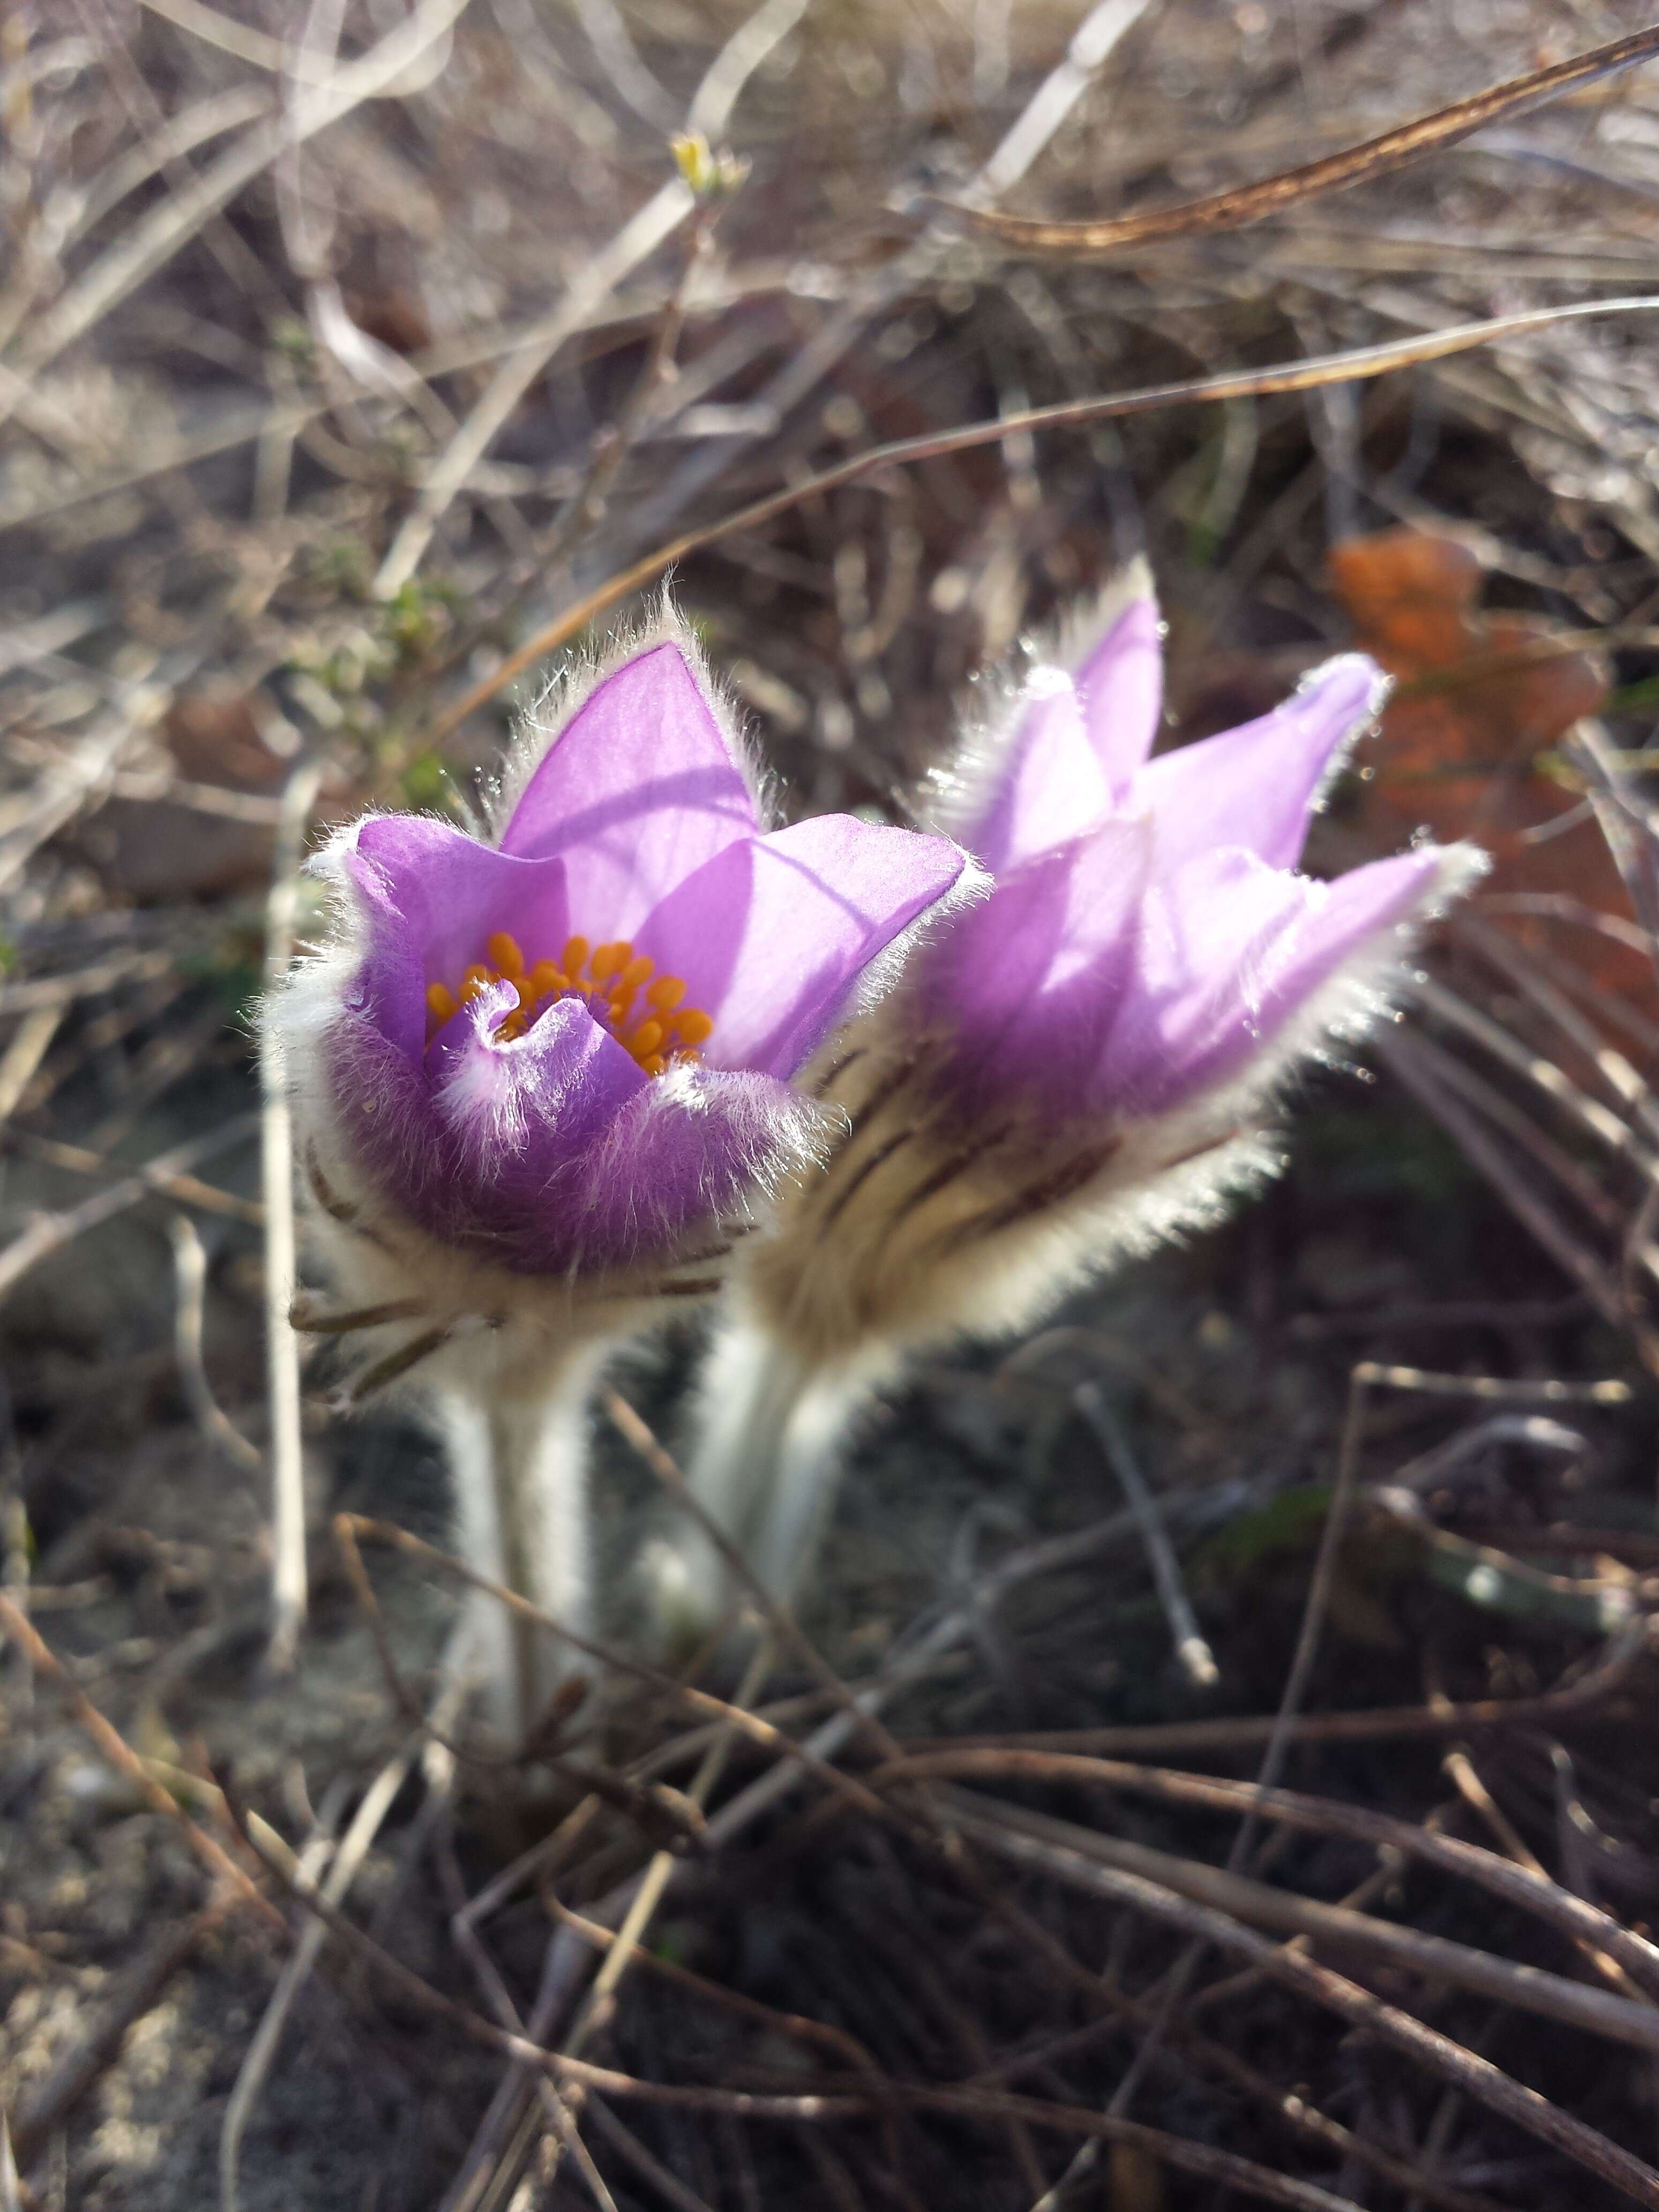
<svg viewBox="0 0 1659 2212">
<path fill-rule="evenodd" d="M 1524 77 L 1493 84 L 1469 100 L 1455 100 L 1433 115 L 1418 115 L 1409 124 L 1396 124 L 1378 137 L 1349 146 L 1343 153 L 1325 155 L 1301 168 L 1281 170 L 1259 184 L 1234 186 L 1228 192 L 1212 192 L 1208 199 L 1190 199 L 1179 208 L 1157 208 L 1150 215 L 1121 215 L 1099 223 L 1046 223 L 1035 217 L 1000 215 L 991 208 L 971 208 L 947 201 L 964 223 L 1011 246 L 1015 252 L 1064 254 L 1082 259 L 1104 254 L 1126 246 L 1152 246 L 1159 239 L 1192 239 L 1214 230 L 1239 230 L 1243 223 L 1259 223 L 1263 217 L 1281 215 L 1303 199 L 1321 192 L 1340 192 L 1354 184 L 1369 184 L 1387 177 L 1407 161 L 1420 161 L 1442 146 L 1455 146 L 1486 124 L 1526 115 L 1544 106 L 1559 93 L 1579 84 L 1595 84 L 1619 69 L 1635 69 L 1659 55 L 1659 24 L 1635 31 L 1630 38 L 1615 38 L 1606 46 L 1593 46 L 1571 62 L 1555 62 L 1548 69 L 1533 69 Z"/>
</svg>

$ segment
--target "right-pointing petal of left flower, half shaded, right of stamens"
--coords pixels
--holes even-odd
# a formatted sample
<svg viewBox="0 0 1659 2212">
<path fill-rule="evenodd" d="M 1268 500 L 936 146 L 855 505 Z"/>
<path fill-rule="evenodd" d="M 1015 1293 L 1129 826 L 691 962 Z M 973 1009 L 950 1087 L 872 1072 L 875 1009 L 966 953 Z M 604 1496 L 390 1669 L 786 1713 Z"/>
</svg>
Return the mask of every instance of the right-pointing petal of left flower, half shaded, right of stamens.
<svg viewBox="0 0 1659 2212">
<path fill-rule="evenodd" d="M 858 973 L 962 874 L 956 845 L 849 814 L 730 845 L 657 907 L 635 945 L 714 1022 L 714 1068 L 790 1077 Z"/>
</svg>

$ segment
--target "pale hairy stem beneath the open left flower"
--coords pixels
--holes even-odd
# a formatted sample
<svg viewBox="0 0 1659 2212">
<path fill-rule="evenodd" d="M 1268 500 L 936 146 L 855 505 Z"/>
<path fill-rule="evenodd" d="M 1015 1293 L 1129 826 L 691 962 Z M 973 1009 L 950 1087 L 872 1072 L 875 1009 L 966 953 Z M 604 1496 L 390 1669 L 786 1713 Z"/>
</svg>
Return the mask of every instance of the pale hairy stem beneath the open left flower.
<svg viewBox="0 0 1659 2212">
<path fill-rule="evenodd" d="M 606 1352 L 604 1340 L 575 1345 L 526 1389 L 491 1387 L 489 1376 L 469 1387 L 451 1374 L 436 1400 L 462 1559 L 577 1635 L 593 1619 L 586 1402 Z M 571 1650 L 487 1590 L 471 1593 L 469 1624 L 484 1710 L 518 1747 L 573 1672 Z"/>
</svg>

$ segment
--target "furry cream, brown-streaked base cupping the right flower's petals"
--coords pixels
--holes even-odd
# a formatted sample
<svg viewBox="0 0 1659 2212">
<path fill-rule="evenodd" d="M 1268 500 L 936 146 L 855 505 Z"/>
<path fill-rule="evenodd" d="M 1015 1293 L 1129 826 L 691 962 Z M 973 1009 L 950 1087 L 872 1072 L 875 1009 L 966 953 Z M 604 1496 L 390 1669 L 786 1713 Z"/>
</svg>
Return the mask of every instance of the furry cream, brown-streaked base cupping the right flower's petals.
<svg viewBox="0 0 1659 2212">
<path fill-rule="evenodd" d="M 1449 847 L 1409 918 L 1376 931 L 1234 1077 L 1161 1113 L 1055 1126 L 1033 1104 L 964 1117 L 949 1060 L 914 1037 L 909 998 L 889 1000 L 827 1064 L 845 1133 L 827 1172 L 785 1192 L 776 1237 L 745 1256 L 752 1312 L 807 1360 L 841 1363 L 860 1345 L 896 1356 L 1011 1334 L 1113 1263 L 1217 1225 L 1285 1166 L 1263 1117 L 1303 1068 L 1329 1062 L 1332 1040 L 1352 1044 L 1391 1013 L 1402 956 L 1484 865 L 1475 847 Z"/>
</svg>

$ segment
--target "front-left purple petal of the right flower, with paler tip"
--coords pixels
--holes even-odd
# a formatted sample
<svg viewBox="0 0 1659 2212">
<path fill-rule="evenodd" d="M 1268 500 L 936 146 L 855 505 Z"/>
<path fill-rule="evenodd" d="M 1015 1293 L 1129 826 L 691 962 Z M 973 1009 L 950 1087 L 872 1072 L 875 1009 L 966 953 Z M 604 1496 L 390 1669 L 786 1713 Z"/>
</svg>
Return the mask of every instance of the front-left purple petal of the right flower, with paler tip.
<svg viewBox="0 0 1659 2212">
<path fill-rule="evenodd" d="M 922 956 L 922 1013 L 956 1033 L 967 1093 L 1029 1095 L 1055 1115 L 1093 1106 L 1150 858 L 1150 823 L 1119 816 L 1009 876 Z"/>
</svg>

